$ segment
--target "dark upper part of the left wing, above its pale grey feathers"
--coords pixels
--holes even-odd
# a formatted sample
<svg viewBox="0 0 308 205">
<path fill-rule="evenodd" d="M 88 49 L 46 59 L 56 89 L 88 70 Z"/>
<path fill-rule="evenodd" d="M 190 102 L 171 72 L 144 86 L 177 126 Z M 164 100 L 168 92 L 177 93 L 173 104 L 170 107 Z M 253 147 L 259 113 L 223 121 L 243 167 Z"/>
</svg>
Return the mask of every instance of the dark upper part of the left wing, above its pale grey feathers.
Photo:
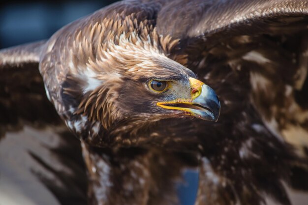
<svg viewBox="0 0 308 205">
<path fill-rule="evenodd" d="M 40 50 L 44 41 L 0 51 L 0 124 L 1 135 L 10 129 L 32 124 L 59 123 L 48 101 L 38 70 Z"/>
</svg>

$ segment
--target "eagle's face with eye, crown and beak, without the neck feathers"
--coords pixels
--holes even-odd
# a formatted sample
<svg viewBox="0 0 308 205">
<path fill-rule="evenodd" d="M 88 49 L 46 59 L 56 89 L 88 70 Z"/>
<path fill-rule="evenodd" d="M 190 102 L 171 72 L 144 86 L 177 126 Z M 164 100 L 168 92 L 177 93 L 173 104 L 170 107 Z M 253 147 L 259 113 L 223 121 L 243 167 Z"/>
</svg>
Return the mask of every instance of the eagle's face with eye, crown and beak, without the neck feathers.
<svg viewBox="0 0 308 205">
<path fill-rule="evenodd" d="M 215 91 L 183 65 L 153 57 L 125 73 L 118 89 L 118 110 L 135 122 L 170 117 L 198 117 L 216 121 L 220 112 Z M 141 123 L 137 120 L 138 123 Z"/>
</svg>

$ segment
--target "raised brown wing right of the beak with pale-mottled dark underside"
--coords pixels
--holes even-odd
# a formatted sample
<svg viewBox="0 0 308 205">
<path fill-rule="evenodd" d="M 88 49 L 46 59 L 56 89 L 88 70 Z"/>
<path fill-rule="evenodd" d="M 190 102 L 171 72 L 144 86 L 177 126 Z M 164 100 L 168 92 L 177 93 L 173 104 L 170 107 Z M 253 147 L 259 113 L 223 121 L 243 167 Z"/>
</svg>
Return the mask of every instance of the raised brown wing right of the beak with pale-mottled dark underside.
<svg viewBox="0 0 308 205">
<path fill-rule="evenodd" d="M 180 38 L 177 52 L 213 87 L 223 86 L 224 74 L 245 73 L 241 94 L 250 95 L 272 133 L 296 146 L 308 146 L 307 25 L 303 0 L 173 1 L 157 17 L 159 33 Z"/>
</svg>

